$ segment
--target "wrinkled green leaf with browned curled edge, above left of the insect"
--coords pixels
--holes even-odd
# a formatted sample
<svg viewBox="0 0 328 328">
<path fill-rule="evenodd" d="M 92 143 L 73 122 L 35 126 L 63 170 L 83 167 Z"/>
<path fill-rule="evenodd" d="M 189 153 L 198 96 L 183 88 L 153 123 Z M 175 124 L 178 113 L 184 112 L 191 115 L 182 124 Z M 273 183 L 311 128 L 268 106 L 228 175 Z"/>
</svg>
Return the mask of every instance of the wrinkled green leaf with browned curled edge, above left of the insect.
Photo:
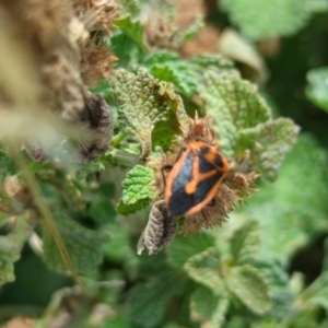
<svg viewBox="0 0 328 328">
<path fill-rule="evenodd" d="M 173 84 L 154 79 L 144 69 L 139 69 L 137 75 L 117 70 L 113 95 L 119 122 L 141 143 L 142 159 L 156 145 L 167 151 L 184 125 L 188 126 L 183 101 L 174 93 Z"/>
</svg>

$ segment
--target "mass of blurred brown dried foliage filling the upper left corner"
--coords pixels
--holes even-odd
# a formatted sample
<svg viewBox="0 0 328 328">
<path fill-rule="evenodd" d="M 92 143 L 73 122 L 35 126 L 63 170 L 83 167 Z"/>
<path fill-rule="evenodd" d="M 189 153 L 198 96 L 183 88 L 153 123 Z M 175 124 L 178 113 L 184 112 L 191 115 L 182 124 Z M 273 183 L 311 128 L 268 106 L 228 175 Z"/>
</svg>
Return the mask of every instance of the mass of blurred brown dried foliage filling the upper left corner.
<svg viewBox="0 0 328 328">
<path fill-rule="evenodd" d="M 110 49 L 105 46 L 103 38 L 110 36 L 110 27 L 116 16 L 117 4 L 114 0 L 13 0 L 0 4 L 0 17 L 5 19 L 1 24 L 8 37 L 8 48 L 17 48 L 24 51 L 24 56 L 13 54 L 20 62 L 16 66 L 31 71 L 31 79 L 23 74 L 22 90 L 35 84 L 34 102 L 26 101 L 15 93 L 15 85 L 8 86 L 0 81 L 0 109 L 16 109 L 17 104 L 25 103 L 25 113 L 38 115 L 37 110 L 50 109 L 57 116 L 71 124 L 71 128 L 79 131 L 86 127 L 92 133 L 90 141 L 83 140 L 83 144 L 96 143 L 97 152 L 91 151 L 86 157 L 94 159 L 95 153 L 101 153 L 107 148 L 99 145 L 101 136 L 103 143 L 108 143 L 113 134 L 113 116 L 110 108 L 104 99 L 97 102 L 99 108 L 90 106 L 91 96 L 87 85 L 94 85 L 99 79 L 109 79 L 116 58 Z M 5 44 L 1 45 L 7 47 Z M 8 57 L 8 62 L 10 58 Z M 3 63 L 7 58 L 0 58 Z M 1 61 L 2 60 L 2 61 Z M 26 62 L 23 62 L 25 60 Z M 13 60 L 11 60 L 13 62 Z M 11 67 L 10 74 L 15 73 Z M 23 71 L 23 70 L 22 70 Z M 19 85 L 17 85 L 19 86 Z M 16 86 L 16 87 L 17 87 Z M 21 98 L 20 98 L 21 97 Z M 26 96 L 25 96 L 26 97 Z M 90 110 L 95 112 L 94 114 Z M 84 112 L 87 112 L 85 114 Z M 99 117 L 99 130 L 95 140 L 95 128 L 92 121 L 85 122 L 85 117 Z M 1 113 L 1 112 L 0 112 Z M 105 114 L 106 113 L 106 114 Z M 40 113 L 42 114 L 42 113 Z M 49 114 L 50 110 L 49 110 Z M 42 116 L 39 116 L 42 117 Z M 83 121 L 81 121 L 83 117 Z M 105 125 L 107 124 L 106 128 Z M 78 133 L 82 134 L 82 133 Z M 106 136 L 105 136 L 106 134 Z M 36 161 L 45 159 L 44 150 L 37 139 L 33 137 L 25 141 L 28 154 Z M 85 139 L 85 138 L 84 138 Z M 92 147 L 94 150 L 94 147 Z M 85 148 L 84 148 L 85 150 Z"/>
</svg>

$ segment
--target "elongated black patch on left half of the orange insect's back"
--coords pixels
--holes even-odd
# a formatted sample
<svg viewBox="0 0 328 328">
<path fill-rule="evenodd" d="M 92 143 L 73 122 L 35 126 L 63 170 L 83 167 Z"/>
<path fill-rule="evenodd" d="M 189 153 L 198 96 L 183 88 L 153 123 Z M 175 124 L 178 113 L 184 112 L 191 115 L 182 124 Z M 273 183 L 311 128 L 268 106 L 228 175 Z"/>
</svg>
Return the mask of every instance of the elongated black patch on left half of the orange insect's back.
<svg viewBox="0 0 328 328">
<path fill-rule="evenodd" d="M 194 206 L 194 196 L 186 194 L 186 184 L 192 180 L 192 162 L 195 155 L 189 153 L 184 161 L 172 186 L 168 210 L 173 215 L 183 215 Z"/>
</svg>

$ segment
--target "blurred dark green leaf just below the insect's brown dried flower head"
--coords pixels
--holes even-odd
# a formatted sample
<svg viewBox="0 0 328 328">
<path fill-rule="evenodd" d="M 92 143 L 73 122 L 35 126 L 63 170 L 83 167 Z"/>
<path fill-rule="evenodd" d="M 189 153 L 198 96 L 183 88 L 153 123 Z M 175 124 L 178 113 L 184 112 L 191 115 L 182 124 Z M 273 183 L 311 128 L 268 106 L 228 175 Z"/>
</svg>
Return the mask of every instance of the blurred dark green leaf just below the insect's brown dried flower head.
<svg viewBox="0 0 328 328">
<path fill-rule="evenodd" d="M 213 246 L 214 237 L 203 233 L 197 235 L 178 235 L 166 248 L 168 261 L 176 268 L 183 268 L 188 258 Z"/>
</svg>

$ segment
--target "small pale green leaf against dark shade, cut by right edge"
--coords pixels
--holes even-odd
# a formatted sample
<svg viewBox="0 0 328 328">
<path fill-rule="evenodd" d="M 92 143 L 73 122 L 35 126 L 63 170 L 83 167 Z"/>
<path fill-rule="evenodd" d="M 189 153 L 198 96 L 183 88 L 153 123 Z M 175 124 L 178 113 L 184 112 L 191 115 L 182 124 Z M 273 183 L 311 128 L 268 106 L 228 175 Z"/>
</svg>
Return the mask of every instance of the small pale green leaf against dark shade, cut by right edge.
<svg viewBox="0 0 328 328">
<path fill-rule="evenodd" d="M 306 74 L 307 98 L 319 108 L 328 112 L 328 67 L 309 70 Z"/>
</svg>

